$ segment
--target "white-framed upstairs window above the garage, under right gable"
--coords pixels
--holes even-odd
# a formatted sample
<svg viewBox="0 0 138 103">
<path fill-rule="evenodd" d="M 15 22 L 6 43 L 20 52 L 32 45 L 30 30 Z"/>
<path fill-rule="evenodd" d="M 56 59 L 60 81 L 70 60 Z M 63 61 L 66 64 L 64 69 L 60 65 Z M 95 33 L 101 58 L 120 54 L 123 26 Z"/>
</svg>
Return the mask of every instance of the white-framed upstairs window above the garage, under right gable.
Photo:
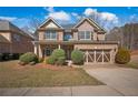
<svg viewBox="0 0 138 103">
<path fill-rule="evenodd" d="M 79 40 L 91 40 L 90 31 L 79 31 Z"/>
</svg>

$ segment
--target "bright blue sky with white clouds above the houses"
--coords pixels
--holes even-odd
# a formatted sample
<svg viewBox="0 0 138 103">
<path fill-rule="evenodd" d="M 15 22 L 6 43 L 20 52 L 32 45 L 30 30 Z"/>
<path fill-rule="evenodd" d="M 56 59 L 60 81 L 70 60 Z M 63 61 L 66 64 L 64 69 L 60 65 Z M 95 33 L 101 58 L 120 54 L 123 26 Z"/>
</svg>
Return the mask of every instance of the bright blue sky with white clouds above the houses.
<svg viewBox="0 0 138 103">
<path fill-rule="evenodd" d="M 19 28 L 29 25 L 32 18 L 43 22 L 52 17 L 59 23 L 76 23 L 83 17 L 97 16 L 106 29 L 138 22 L 138 7 L 0 7 L 0 19 Z"/>
</svg>

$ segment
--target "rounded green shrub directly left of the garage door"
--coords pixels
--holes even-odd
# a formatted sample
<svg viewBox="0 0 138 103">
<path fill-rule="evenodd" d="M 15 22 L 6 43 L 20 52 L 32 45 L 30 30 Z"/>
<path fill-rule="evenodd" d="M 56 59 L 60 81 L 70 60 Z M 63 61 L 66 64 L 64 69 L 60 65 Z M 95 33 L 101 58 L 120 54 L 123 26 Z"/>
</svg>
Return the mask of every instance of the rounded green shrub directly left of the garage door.
<svg viewBox="0 0 138 103">
<path fill-rule="evenodd" d="M 71 52 L 71 60 L 75 64 L 82 64 L 83 63 L 83 53 L 79 50 L 73 50 Z"/>
</svg>

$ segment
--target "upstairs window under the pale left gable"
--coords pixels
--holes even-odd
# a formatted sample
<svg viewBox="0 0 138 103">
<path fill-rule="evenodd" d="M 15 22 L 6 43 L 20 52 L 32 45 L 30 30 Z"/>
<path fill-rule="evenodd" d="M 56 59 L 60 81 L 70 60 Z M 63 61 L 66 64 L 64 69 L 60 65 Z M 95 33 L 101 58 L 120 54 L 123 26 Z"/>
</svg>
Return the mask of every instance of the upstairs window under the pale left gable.
<svg viewBox="0 0 138 103">
<path fill-rule="evenodd" d="M 47 39 L 47 40 L 57 40 L 56 31 L 46 31 L 45 39 Z"/>
</svg>

